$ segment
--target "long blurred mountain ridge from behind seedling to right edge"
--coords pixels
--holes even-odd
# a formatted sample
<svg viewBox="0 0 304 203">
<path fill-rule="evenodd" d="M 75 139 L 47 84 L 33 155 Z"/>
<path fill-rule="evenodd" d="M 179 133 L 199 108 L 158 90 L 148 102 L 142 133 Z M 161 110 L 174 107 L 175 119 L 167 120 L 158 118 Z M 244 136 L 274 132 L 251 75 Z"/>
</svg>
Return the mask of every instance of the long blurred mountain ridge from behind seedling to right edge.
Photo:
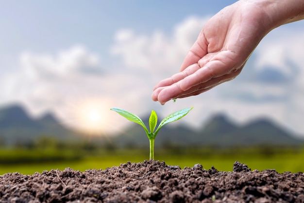
<svg viewBox="0 0 304 203">
<path fill-rule="evenodd" d="M 143 119 L 148 124 L 148 118 Z M 179 121 L 177 121 L 179 122 Z M 214 115 L 199 130 L 186 126 L 164 126 L 155 139 L 155 146 L 253 146 L 253 145 L 290 145 L 304 144 L 286 130 L 270 120 L 261 118 L 244 126 L 231 122 L 224 114 Z M 141 126 L 133 124 L 115 137 L 120 146 L 148 146 L 149 140 Z"/>
</svg>

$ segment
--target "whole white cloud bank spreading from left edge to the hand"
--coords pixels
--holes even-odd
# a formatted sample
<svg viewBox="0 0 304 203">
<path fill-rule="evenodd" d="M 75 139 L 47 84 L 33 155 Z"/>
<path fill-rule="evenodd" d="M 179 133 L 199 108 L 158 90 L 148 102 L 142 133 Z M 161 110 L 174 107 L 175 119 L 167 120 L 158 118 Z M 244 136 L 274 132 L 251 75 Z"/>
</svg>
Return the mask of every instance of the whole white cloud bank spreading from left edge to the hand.
<svg viewBox="0 0 304 203">
<path fill-rule="evenodd" d="M 22 102 L 34 115 L 54 111 L 70 125 L 82 100 L 98 100 L 111 107 L 125 108 L 139 115 L 151 109 L 159 114 L 177 111 L 179 106 L 162 107 L 151 100 L 155 83 L 179 71 L 186 52 L 207 18 L 190 17 L 174 27 L 172 34 L 155 31 L 137 35 L 131 29 L 119 30 L 111 53 L 122 66 L 102 68 L 101 56 L 84 46 L 56 53 L 23 52 L 17 72 L 1 80 L 5 102 Z M 117 70 L 117 71 L 113 71 Z M 4 100 L 2 100 L 4 101 Z M 181 105 L 185 102 L 179 102 Z M 122 120 L 115 126 L 128 124 Z M 73 125 L 73 124 L 71 124 Z"/>
</svg>

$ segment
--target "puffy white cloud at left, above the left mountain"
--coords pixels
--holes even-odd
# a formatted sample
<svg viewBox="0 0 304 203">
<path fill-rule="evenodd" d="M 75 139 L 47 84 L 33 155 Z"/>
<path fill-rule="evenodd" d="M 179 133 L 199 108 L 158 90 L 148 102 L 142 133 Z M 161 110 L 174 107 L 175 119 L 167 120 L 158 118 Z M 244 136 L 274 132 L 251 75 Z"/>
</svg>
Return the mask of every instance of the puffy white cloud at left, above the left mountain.
<svg viewBox="0 0 304 203">
<path fill-rule="evenodd" d="M 23 52 L 19 69 L 1 79 L 3 99 L 25 103 L 34 114 L 53 110 L 71 92 L 89 92 L 86 85 L 94 89 L 102 75 L 100 61 L 99 55 L 79 45 L 55 55 Z"/>
</svg>

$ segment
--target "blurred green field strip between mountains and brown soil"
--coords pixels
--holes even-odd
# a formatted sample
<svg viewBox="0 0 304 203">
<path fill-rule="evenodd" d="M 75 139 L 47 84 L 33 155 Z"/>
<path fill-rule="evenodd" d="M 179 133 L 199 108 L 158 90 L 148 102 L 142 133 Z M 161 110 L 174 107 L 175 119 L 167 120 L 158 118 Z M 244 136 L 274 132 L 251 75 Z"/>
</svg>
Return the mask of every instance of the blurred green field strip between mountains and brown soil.
<svg viewBox="0 0 304 203">
<path fill-rule="evenodd" d="M 61 156 L 60 156 L 61 155 Z M 51 149 L 1 149 L 0 175 L 19 172 L 22 174 L 41 173 L 43 170 L 70 167 L 75 170 L 105 169 L 122 163 L 143 162 L 149 159 L 149 149 L 106 149 L 106 150 L 51 150 Z M 155 149 L 155 159 L 167 165 L 181 168 L 195 164 L 219 171 L 232 171 L 235 161 L 248 165 L 252 170 L 275 169 L 304 172 L 304 148 L 173 148 Z M 13 160 L 13 161 L 10 161 Z"/>
</svg>

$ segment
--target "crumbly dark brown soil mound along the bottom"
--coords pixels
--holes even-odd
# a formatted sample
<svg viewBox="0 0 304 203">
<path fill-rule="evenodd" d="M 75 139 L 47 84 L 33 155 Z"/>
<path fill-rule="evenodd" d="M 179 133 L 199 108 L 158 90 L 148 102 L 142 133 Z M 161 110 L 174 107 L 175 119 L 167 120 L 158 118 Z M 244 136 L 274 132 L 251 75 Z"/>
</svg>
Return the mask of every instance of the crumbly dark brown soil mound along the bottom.
<svg viewBox="0 0 304 203">
<path fill-rule="evenodd" d="M 0 203 L 304 203 L 304 173 L 181 169 L 146 160 L 104 170 L 71 168 L 0 176 Z"/>
</svg>

